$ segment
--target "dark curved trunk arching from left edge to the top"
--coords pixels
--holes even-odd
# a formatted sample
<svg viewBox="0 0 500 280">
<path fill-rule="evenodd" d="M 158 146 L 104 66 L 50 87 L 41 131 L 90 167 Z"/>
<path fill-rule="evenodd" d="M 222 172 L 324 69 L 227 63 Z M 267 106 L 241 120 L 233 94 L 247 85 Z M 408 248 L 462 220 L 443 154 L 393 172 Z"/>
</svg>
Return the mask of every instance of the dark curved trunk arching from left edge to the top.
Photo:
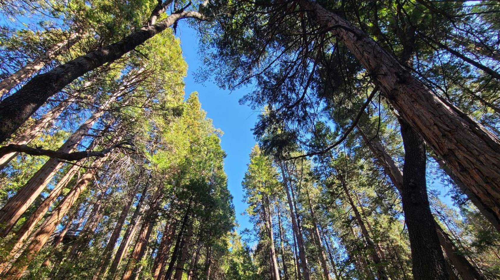
<svg viewBox="0 0 500 280">
<path fill-rule="evenodd" d="M 45 73 L 37 74 L 0 104 L 0 143 L 5 141 L 53 94 L 105 63 L 112 62 L 182 18 L 203 19 L 195 11 L 179 11 L 144 26 L 122 40 L 90 51 Z"/>
</svg>

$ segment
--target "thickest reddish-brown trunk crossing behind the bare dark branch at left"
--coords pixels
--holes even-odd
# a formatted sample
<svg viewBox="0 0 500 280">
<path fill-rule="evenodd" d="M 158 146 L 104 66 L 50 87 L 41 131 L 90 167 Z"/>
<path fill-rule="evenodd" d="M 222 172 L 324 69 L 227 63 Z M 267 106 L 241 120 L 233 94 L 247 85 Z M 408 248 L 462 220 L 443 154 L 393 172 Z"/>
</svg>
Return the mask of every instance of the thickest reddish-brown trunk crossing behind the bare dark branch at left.
<svg viewBox="0 0 500 280">
<path fill-rule="evenodd" d="M 102 116 L 109 105 L 119 96 L 120 90 L 102 103 L 99 108 L 90 115 L 76 131 L 57 149 L 58 152 L 71 152 L 76 148 L 83 136 L 93 126 L 95 121 Z M 0 209 L 0 224 L 5 226 L 0 229 L 0 236 L 5 237 L 15 225 L 19 217 L 33 203 L 35 198 L 50 183 L 52 177 L 57 173 L 64 162 L 58 158 L 49 158 L 43 166 L 12 196 Z"/>
</svg>

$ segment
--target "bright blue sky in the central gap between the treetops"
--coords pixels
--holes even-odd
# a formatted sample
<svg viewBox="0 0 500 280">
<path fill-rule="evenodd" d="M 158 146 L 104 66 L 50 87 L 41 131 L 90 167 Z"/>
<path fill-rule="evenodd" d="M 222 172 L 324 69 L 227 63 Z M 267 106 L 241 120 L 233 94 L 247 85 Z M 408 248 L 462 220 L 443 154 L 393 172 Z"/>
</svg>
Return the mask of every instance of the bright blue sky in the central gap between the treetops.
<svg viewBox="0 0 500 280">
<path fill-rule="evenodd" d="M 224 160 L 224 169 L 227 173 L 228 188 L 233 196 L 236 219 L 240 229 L 251 228 L 247 216 L 241 215 L 246 208 L 246 204 L 241 201 L 243 199 L 241 180 L 246 171 L 250 149 L 255 144 L 250 129 L 253 127 L 259 112 L 238 103 L 239 98 L 249 91 L 245 88 L 231 92 L 219 88 L 212 80 L 203 83 L 196 82 L 196 70 L 202 65 L 202 57 L 198 54 L 196 31 L 185 22 L 179 22 L 176 36 L 180 38 L 184 59 L 188 67 L 187 76 L 184 78 L 186 95 L 197 91 L 201 107 L 213 120 L 213 125 L 224 132 L 221 137 L 222 149 L 227 154 Z"/>
</svg>

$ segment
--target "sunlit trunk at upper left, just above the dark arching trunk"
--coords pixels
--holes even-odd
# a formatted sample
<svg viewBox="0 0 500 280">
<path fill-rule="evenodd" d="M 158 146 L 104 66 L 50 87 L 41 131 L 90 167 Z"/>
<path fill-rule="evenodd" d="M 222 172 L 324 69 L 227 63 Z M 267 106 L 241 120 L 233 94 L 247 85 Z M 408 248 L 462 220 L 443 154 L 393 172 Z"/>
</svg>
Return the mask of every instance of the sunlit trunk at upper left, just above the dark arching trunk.
<svg viewBox="0 0 500 280">
<path fill-rule="evenodd" d="M 22 66 L 20 69 L 10 74 L 6 78 L 4 78 L 0 82 L 0 97 L 9 92 L 12 88 L 14 88 L 21 81 L 29 78 L 34 73 L 36 73 L 39 69 L 41 69 L 47 62 L 53 60 L 57 55 L 61 54 L 64 50 L 71 47 L 74 43 L 76 43 L 79 39 L 78 33 L 71 33 L 62 41 L 56 43 L 47 51 L 45 51 L 42 55 L 33 59 L 26 63 L 26 65 Z"/>
</svg>

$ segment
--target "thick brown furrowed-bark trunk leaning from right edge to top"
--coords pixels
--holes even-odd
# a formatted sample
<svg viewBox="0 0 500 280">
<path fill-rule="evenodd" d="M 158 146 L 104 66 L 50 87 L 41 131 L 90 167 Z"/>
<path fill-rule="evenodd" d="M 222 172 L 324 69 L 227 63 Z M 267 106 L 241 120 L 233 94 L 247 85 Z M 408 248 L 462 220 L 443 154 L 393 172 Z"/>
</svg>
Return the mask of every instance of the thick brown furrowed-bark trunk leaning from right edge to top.
<svg viewBox="0 0 500 280">
<path fill-rule="evenodd" d="M 402 118 L 500 220 L 500 139 L 439 98 L 350 22 L 317 2 L 298 2 L 345 44 Z"/>
</svg>

